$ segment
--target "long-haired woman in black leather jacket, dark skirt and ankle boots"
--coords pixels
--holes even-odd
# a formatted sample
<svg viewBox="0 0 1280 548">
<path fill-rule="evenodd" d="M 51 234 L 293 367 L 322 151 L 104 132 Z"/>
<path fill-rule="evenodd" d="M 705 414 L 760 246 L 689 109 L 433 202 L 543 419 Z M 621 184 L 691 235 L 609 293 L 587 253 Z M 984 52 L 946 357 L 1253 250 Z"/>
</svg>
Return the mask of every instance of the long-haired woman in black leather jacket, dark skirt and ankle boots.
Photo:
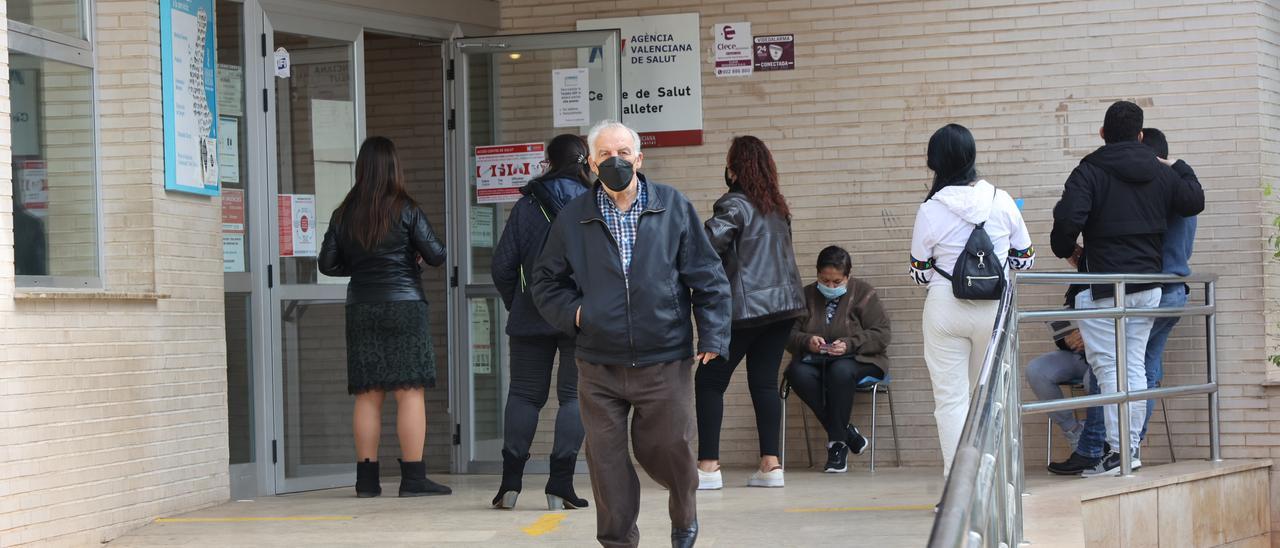
<svg viewBox="0 0 1280 548">
<path fill-rule="evenodd" d="M 426 478 L 426 389 L 435 387 L 420 262 L 444 262 L 444 245 L 404 192 L 396 145 L 370 137 L 356 157 L 356 186 L 333 211 L 320 273 L 347 283 L 347 392 L 356 396 L 356 496 L 378 497 L 378 440 L 387 392 L 396 394 L 401 497 L 449 494 Z"/>
</svg>

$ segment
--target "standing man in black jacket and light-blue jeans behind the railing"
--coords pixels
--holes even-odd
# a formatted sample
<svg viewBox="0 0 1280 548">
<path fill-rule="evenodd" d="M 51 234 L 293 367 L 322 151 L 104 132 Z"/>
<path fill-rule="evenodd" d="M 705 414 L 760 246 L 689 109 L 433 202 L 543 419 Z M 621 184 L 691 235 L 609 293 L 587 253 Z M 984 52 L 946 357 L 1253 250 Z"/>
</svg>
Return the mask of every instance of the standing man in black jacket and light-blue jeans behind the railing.
<svg viewBox="0 0 1280 548">
<path fill-rule="evenodd" d="M 1050 243 L 1059 257 L 1076 252 L 1076 238 L 1084 234 L 1084 259 L 1089 271 L 1116 274 L 1160 274 L 1167 219 L 1190 216 L 1204 209 L 1204 191 L 1194 178 L 1184 178 L 1169 163 L 1142 143 L 1142 109 L 1119 101 L 1107 109 L 1101 136 L 1105 146 L 1084 157 L 1071 172 L 1062 198 L 1053 207 Z M 1160 305 L 1160 284 L 1130 284 L 1124 298 L 1128 307 L 1153 309 Z M 1075 307 L 1115 306 L 1110 284 L 1091 286 L 1075 297 Z M 1125 320 L 1125 378 L 1129 391 L 1147 388 L 1143 364 L 1152 318 Z M 1116 387 L 1115 323 L 1110 319 L 1080 320 L 1085 357 L 1102 393 Z M 1107 443 L 1111 453 L 1084 475 L 1111 474 L 1120 469 L 1117 448 L 1121 439 L 1132 452 L 1133 469 L 1138 458 L 1147 402 L 1129 403 L 1129 424 L 1119 424 L 1116 406 L 1106 406 Z M 1123 430 L 1124 429 L 1124 430 Z M 1123 437 L 1121 433 L 1128 435 Z"/>
</svg>

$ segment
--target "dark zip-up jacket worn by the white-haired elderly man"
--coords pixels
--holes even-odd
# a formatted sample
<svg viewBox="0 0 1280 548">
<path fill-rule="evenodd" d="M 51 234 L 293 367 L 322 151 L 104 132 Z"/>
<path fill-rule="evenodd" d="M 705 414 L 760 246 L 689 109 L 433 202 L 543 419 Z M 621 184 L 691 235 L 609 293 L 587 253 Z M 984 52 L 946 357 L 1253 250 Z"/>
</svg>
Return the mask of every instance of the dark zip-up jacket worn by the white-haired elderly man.
<svg viewBox="0 0 1280 548">
<path fill-rule="evenodd" d="M 684 195 L 645 184 L 649 204 L 636 224 L 630 283 L 591 189 L 556 218 L 530 280 L 534 302 L 552 325 L 577 332 L 576 356 L 590 364 L 692 359 L 694 318 L 698 352 L 727 355 L 733 297 L 719 255 Z"/>
</svg>

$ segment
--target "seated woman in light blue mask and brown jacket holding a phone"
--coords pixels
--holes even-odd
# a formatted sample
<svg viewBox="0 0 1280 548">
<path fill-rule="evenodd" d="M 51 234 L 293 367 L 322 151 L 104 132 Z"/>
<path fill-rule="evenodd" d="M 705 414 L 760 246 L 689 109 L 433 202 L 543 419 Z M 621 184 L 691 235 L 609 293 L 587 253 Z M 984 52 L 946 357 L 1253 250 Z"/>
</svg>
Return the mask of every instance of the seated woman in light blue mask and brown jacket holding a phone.
<svg viewBox="0 0 1280 548">
<path fill-rule="evenodd" d="M 804 288 L 805 315 L 787 350 L 786 378 L 827 430 L 826 472 L 849 470 L 849 452 L 861 455 L 867 438 L 849 423 L 854 388 L 883 379 L 888 367 L 888 315 L 867 282 L 850 278 L 849 252 L 829 246 L 818 254 L 818 280 Z"/>
</svg>

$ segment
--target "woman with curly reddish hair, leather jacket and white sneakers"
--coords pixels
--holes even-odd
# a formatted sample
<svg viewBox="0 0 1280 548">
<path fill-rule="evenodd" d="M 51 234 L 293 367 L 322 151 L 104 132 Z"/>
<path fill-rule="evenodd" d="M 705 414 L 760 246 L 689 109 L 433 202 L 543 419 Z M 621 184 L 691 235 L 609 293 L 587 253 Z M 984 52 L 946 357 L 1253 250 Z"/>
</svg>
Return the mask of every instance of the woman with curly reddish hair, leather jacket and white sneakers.
<svg viewBox="0 0 1280 548">
<path fill-rule="evenodd" d="M 698 406 L 698 488 L 724 485 L 719 433 L 724 391 L 746 359 L 746 382 L 760 438 L 760 466 L 749 487 L 782 487 L 778 462 L 778 365 L 795 319 L 805 311 L 800 271 L 791 247 L 791 210 L 778 191 L 773 155 L 759 138 L 735 137 L 724 166 L 728 192 L 716 201 L 707 236 L 733 288 L 733 333 L 727 360 L 700 365 L 694 376 Z"/>
</svg>

